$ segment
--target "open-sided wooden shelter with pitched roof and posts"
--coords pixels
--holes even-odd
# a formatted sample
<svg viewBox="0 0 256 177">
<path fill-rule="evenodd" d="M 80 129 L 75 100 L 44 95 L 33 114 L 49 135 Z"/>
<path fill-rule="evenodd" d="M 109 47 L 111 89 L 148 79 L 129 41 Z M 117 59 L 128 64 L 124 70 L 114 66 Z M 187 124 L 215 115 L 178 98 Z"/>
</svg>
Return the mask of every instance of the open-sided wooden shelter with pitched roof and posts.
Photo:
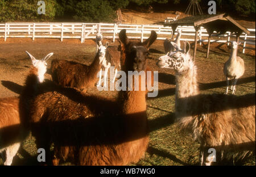
<svg viewBox="0 0 256 177">
<path fill-rule="evenodd" d="M 201 26 L 207 29 L 208 32 L 208 48 L 207 48 L 207 58 L 209 56 L 210 50 L 210 36 L 214 31 L 218 33 L 218 35 L 222 35 L 229 32 L 236 33 L 237 41 L 242 32 L 249 34 L 250 32 L 242 27 L 240 24 L 236 22 L 233 18 L 231 18 L 227 14 L 217 14 L 217 15 L 196 15 L 196 16 L 188 16 L 183 19 L 176 20 L 175 22 L 164 23 L 164 26 L 172 27 L 173 33 L 175 32 L 177 26 L 194 26 L 195 33 L 195 47 L 193 51 L 193 60 L 196 58 L 196 47 L 197 47 L 197 36 Z"/>
</svg>

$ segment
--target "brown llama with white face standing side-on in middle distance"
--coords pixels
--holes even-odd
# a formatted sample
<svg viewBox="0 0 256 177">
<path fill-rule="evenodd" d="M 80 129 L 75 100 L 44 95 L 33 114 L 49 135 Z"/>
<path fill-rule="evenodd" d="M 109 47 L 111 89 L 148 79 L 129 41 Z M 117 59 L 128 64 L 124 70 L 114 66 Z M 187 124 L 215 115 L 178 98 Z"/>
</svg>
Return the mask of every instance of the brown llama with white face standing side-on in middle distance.
<svg viewBox="0 0 256 177">
<path fill-rule="evenodd" d="M 97 73 L 105 60 L 107 47 L 108 43 L 105 46 L 100 45 L 98 54 L 89 66 L 67 60 L 52 60 L 52 80 L 60 86 L 76 87 L 86 92 L 97 81 Z"/>
</svg>

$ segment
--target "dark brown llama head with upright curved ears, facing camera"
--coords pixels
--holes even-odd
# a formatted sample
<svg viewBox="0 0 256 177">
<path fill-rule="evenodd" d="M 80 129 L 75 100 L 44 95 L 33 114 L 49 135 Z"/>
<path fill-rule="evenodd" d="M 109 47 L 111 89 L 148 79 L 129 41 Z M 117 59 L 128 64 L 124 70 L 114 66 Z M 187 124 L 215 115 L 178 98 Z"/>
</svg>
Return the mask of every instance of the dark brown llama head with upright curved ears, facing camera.
<svg viewBox="0 0 256 177">
<path fill-rule="evenodd" d="M 125 60 L 122 70 L 124 71 L 142 71 L 146 69 L 146 61 L 148 58 L 148 49 L 156 40 L 155 31 L 151 31 L 150 37 L 143 43 L 141 41 L 130 41 L 126 36 L 126 29 L 119 32 L 119 39 L 123 43 L 125 50 Z"/>
</svg>

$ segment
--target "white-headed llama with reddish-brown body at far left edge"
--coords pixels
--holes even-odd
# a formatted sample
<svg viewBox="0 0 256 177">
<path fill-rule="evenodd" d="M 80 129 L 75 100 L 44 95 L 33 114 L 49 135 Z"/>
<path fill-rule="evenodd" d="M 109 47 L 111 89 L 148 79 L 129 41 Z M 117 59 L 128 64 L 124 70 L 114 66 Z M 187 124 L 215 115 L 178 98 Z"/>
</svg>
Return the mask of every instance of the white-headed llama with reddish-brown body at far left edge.
<svg viewBox="0 0 256 177">
<path fill-rule="evenodd" d="M 27 77 L 26 82 L 30 82 L 32 87 L 30 90 L 23 90 L 23 95 L 26 98 L 35 94 L 35 87 L 38 82 L 43 82 L 44 74 L 46 73 L 46 60 L 52 56 L 49 53 L 42 60 L 36 60 L 30 53 L 28 53 L 32 60 L 32 69 Z M 6 161 L 4 165 L 11 165 L 13 158 L 16 155 L 21 142 L 27 133 L 26 110 L 28 109 L 28 99 L 24 97 L 12 97 L 0 99 L 0 153 L 5 151 Z"/>
</svg>

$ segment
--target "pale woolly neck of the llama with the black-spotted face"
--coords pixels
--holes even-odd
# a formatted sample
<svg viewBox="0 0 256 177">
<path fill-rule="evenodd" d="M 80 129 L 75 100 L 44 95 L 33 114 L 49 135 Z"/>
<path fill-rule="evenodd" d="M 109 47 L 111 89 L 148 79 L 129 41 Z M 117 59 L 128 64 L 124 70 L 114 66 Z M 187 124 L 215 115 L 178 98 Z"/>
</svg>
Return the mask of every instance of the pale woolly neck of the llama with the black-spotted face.
<svg viewBox="0 0 256 177">
<path fill-rule="evenodd" d="M 175 112 L 176 116 L 183 117 L 188 112 L 191 112 L 193 106 L 196 106 L 195 96 L 199 95 L 197 85 L 196 66 L 191 63 L 188 69 L 178 73 L 176 72 L 176 93 L 175 93 Z"/>
</svg>

